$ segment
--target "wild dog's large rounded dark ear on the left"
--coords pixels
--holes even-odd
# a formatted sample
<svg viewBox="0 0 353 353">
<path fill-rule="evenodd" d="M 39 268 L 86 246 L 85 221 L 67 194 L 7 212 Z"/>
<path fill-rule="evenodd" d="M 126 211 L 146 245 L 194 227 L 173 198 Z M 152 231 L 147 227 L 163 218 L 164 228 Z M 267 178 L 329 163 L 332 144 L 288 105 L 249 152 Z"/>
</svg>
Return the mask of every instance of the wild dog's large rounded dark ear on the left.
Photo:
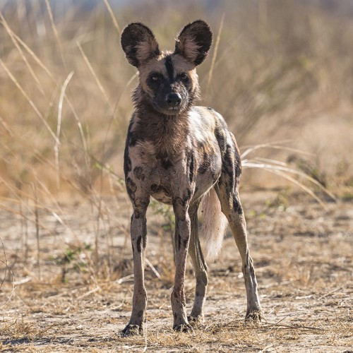
<svg viewBox="0 0 353 353">
<path fill-rule="evenodd" d="M 142 23 L 130 23 L 121 33 L 121 47 L 128 62 L 137 68 L 160 55 L 155 35 L 152 30 Z"/>
</svg>

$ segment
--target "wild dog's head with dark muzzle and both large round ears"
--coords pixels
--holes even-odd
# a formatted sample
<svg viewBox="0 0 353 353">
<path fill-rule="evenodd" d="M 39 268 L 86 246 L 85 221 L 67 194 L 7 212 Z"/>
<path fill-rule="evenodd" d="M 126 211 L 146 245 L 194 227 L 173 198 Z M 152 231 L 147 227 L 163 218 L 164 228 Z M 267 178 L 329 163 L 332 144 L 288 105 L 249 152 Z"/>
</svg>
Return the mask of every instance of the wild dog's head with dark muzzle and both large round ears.
<svg viewBox="0 0 353 353">
<path fill-rule="evenodd" d="M 128 62 L 139 71 L 133 100 L 137 107 L 173 116 L 191 107 L 198 98 L 196 66 L 208 54 L 212 32 L 203 20 L 186 25 L 175 42 L 174 52 L 162 52 L 150 28 L 131 23 L 121 34 Z"/>
</svg>

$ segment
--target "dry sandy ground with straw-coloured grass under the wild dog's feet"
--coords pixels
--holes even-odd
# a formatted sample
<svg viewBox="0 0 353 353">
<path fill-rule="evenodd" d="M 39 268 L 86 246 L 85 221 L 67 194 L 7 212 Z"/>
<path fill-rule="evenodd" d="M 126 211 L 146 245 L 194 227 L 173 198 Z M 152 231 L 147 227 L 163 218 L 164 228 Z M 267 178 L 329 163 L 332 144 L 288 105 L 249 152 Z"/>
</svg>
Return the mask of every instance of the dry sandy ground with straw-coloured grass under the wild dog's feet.
<svg viewBox="0 0 353 353">
<path fill-rule="evenodd" d="M 145 336 L 121 337 L 131 310 L 131 250 L 124 234 L 129 206 L 104 200 L 103 222 L 88 203 L 62 205 L 64 224 L 40 213 L 40 276 L 32 222 L 0 211 L 1 239 L 13 280 L 1 265 L 0 344 L 4 352 L 352 352 L 352 201 L 327 203 L 308 196 L 244 193 L 243 204 L 265 320 L 245 325 L 244 280 L 239 253 L 227 234 L 222 256 L 210 264 L 205 323 L 174 333 L 170 239 L 150 213 L 146 266 L 148 323 Z M 15 208 L 14 205 L 8 207 Z M 18 206 L 16 206 L 16 209 Z M 109 211 L 109 212 L 108 212 Z M 25 210 L 22 210 L 25 213 Z M 107 217 L 109 215 L 109 217 Z M 28 217 L 32 215 L 28 212 Z M 68 244 L 85 242 L 60 263 Z M 26 246 L 27 244 L 27 246 Z M 28 247 L 28 253 L 25 249 Z M 95 262 L 95 258 L 100 263 Z M 66 282 L 61 282 L 63 268 Z M 76 270 L 80 267 L 81 270 Z M 98 269 L 97 269 L 98 267 Z M 106 268 L 107 270 L 102 270 Z M 114 269 L 109 273 L 109 268 Z M 152 270 L 153 268 L 153 270 Z M 14 287 L 13 289 L 13 281 Z M 186 276 L 188 309 L 193 275 Z M 11 299 L 8 298 L 11 296 Z"/>
</svg>

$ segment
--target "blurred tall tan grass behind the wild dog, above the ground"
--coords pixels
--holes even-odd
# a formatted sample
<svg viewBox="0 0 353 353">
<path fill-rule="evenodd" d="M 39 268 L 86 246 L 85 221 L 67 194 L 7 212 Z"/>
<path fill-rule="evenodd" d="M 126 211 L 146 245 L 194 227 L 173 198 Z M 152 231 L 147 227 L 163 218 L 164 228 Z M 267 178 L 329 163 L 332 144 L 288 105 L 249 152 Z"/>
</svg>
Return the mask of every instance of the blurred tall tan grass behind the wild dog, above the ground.
<svg viewBox="0 0 353 353">
<path fill-rule="evenodd" d="M 0 0 L 0 11 L 4 201 L 124 191 L 137 76 L 120 32 L 141 21 L 173 49 L 177 32 L 198 18 L 214 32 L 198 68 L 200 104 L 225 116 L 242 152 L 256 145 L 253 160 L 352 196 L 353 1 Z M 288 181 L 244 168 L 242 183 Z"/>
</svg>

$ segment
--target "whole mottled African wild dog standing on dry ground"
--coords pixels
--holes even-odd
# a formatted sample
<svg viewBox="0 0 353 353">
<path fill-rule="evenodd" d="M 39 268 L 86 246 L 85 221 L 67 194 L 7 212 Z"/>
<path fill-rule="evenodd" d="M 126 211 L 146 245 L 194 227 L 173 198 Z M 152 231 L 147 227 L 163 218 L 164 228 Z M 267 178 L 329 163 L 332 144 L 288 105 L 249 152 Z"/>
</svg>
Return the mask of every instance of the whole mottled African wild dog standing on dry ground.
<svg viewBox="0 0 353 353">
<path fill-rule="evenodd" d="M 123 330 L 125 335 L 141 333 L 145 323 L 144 259 L 150 196 L 171 204 L 175 213 L 174 330 L 190 330 L 191 323 L 203 320 L 208 275 L 198 238 L 197 213 L 201 201 L 205 229 L 202 235 L 208 253 L 215 257 L 222 246 L 227 225 L 224 213 L 241 255 L 246 319 L 261 320 L 256 276 L 238 194 L 241 162 L 237 143 L 220 114 L 194 105 L 199 97 L 196 66 L 207 56 L 211 42 L 212 32 L 202 20 L 181 30 L 174 52 L 160 51 L 152 31 L 142 23 L 131 23 L 121 34 L 126 59 L 139 71 L 138 87 L 133 92 L 135 111 L 124 154 L 126 189 L 133 204 L 134 273 L 133 309 Z M 186 316 L 184 295 L 188 249 L 196 273 L 190 316 Z"/>
</svg>

